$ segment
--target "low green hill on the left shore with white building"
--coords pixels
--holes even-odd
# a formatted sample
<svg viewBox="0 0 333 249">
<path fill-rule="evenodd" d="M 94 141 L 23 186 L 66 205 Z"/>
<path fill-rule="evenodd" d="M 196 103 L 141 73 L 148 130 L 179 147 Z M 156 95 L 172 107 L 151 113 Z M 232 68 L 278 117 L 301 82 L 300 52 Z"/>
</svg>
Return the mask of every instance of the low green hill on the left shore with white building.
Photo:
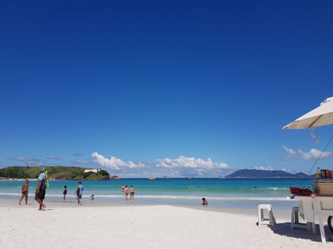
<svg viewBox="0 0 333 249">
<path fill-rule="evenodd" d="M 108 180 L 110 174 L 105 170 L 97 173 L 85 172 L 82 167 L 45 166 L 50 179 L 56 180 Z M 0 178 L 37 178 L 40 167 L 10 166 L 0 169 Z M 114 178 L 115 176 L 112 176 Z"/>
</svg>

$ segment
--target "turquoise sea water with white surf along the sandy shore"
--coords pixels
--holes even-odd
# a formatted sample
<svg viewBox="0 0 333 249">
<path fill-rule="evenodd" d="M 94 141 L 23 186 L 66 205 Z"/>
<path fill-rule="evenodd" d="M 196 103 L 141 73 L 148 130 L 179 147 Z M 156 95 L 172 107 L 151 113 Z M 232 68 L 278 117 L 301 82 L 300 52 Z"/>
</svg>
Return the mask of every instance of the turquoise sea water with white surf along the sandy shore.
<svg viewBox="0 0 333 249">
<path fill-rule="evenodd" d="M 314 179 L 262 178 L 262 179 L 218 179 L 218 178 L 169 178 L 149 181 L 146 178 L 128 178 L 119 181 L 83 181 L 83 201 L 94 194 L 95 202 L 121 204 L 125 202 L 121 184 L 135 187 L 137 204 L 148 205 L 200 205 L 201 198 L 215 208 L 256 209 L 260 203 L 271 203 L 275 210 L 291 210 L 296 204 L 289 187 L 310 187 Z M 23 181 L 0 181 L 0 199 L 19 199 Z M 67 201 L 75 201 L 77 181 L 50 181 L 45 201 L 62 201 L 62 190 L 67 185 Z M 37 181 L 29 184 L 29 199 Z"/>
</svg>

